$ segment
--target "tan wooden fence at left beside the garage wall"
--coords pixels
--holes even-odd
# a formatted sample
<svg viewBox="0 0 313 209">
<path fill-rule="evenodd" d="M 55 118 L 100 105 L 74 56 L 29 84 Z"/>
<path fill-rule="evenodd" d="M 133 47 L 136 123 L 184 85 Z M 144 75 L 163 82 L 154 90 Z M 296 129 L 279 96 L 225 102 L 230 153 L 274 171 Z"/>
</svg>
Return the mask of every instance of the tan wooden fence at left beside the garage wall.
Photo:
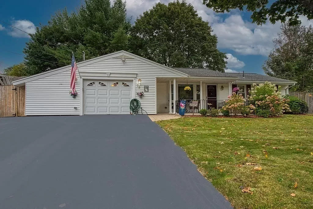
<svg viewBox="0 0 313 209">
<path fill-rule="evenodd" d="M 0 117 L 25 116 L 25 86 L 0 85 Z"/>
</svg>

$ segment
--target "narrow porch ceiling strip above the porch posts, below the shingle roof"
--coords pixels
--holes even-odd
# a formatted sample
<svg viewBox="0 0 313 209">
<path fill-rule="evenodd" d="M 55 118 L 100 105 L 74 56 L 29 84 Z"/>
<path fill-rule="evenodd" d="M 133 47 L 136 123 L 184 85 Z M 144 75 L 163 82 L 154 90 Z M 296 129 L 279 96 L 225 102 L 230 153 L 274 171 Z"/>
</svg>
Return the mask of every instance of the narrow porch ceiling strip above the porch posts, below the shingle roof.
<svg viewBox="0 0 313 209">
<path fill-rule="evenodd" d="M 172 81 L 174 78 L 156 78 L 156 83 L 168 83 Z M 230 82 L 236 81 L 237 79 L 229 79 L 229 78 L 176 78 L 176 83 L 200 83 L 202 81 L 203 84 L 228 84 Z"/>
</svg>

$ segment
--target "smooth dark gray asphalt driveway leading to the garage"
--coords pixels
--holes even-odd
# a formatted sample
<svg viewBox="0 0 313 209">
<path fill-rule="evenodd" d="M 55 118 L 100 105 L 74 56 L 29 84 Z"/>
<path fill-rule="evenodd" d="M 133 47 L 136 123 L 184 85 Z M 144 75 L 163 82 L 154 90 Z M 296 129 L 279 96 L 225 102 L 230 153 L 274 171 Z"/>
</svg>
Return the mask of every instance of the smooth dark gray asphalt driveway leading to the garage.
<svg viewBox="0 0 313 209">
<path fill-rule="evenodd" d="M 0 118 L 0 208 L 231 208 L 146 115 Z"/>
</svg>

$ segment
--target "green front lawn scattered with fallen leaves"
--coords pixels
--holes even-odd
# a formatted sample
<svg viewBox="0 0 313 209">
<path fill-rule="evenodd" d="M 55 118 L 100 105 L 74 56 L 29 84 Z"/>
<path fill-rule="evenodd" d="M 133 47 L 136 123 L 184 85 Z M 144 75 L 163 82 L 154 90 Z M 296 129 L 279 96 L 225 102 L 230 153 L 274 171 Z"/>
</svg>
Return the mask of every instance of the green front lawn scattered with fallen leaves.
<svg viewBox="0 0 313 209">
<path fill-rule="evenodd" d="M 313 116 L 157 124 L 235 208 L 313 208 Z"/>
</svg>

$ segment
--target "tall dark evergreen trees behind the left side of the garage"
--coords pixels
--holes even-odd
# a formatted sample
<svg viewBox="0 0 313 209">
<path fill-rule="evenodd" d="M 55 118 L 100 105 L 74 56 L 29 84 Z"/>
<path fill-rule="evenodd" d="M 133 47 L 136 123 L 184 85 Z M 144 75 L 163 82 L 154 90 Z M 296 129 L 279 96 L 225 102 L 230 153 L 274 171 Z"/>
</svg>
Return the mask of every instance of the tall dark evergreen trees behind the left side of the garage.
<svg viewBox="0 0 313 209">
<path fill-rule="evenodd" d="M 25 63 L 31 74 L 37 74 L 70 64 L 71 51 L 76 61 L 82 61 L 83 51 L 90 59 L 127 50 L 130 28 L 126 2 L 85 0 L 76 12 L 58 11 L 47 25 L 36 29 L 23 51 Z"/>
</svg>

